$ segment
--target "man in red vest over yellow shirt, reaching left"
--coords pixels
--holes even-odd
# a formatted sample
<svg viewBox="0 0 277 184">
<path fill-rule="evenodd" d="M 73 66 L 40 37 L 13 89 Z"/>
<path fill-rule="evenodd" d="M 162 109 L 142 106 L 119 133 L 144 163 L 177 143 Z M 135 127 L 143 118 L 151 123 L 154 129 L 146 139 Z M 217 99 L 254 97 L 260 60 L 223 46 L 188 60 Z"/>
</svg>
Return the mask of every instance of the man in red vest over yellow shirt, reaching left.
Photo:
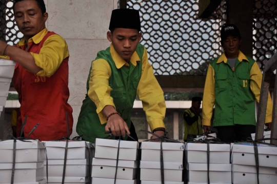
<svg viewBox="0 0 277 184">
<path fill-rule="evenodd" d="M 24 135 L 39 126 L 30 138 L 56 140 L 72 133 L 72 107 L 67 103 L 69 51 L 65 40 L 45 27 L 48 18 L 43 0 L 15 0 L 14 19 L 24 39 L 12 47 L 0 41 L 0 55 L 16 62 L 13 84 L 21 103 L 17 136 L 26 116 Z"/>
</svg>

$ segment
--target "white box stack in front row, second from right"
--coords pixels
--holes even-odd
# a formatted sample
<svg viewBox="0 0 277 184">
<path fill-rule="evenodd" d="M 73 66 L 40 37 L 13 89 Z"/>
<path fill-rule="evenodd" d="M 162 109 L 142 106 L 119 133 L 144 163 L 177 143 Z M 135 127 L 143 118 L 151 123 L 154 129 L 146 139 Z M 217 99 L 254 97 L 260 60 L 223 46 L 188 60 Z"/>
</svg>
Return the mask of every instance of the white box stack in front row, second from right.
<svg viewBox="0 0 277 184">
<path fill-rule="evenodd" d="M 186 143 L 186 170 L 189 184 L 208 183 L 206 143 Z M 210 183 L 232 183 L 230 144 L 209 143 Z"/>
</svg>

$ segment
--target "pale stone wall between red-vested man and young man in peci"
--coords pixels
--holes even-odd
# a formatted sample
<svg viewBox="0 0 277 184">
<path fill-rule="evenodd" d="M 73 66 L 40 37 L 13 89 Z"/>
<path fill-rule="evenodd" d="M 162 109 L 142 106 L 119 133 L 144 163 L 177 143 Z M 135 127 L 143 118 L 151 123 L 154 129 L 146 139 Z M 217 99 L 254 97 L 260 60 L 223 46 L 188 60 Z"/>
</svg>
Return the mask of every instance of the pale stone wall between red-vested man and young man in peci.
<svg viewBox="0 0 277 184">
<path fill-rule="evenodd" d="M 69 47 L 69 103 L 73 108 L 73 133 L 82 101 L 91 61 L 110 43 L 106 38 L 111 12 L 117 0 L 45 0 L 49 18 L 47 28 L 63 36 Z"/>
</svg>

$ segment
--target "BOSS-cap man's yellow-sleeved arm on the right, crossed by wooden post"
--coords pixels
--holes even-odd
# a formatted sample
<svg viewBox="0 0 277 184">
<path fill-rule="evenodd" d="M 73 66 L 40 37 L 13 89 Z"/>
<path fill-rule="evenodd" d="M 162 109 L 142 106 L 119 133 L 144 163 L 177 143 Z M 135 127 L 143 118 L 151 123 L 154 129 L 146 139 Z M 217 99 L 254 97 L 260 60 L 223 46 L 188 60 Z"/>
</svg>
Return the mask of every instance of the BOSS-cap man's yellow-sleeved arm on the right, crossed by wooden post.
<svg viewBox="0 0 277 184">
<path fill-rule="evenodd" d="M 255 62 L 250 70 L 250 89 L 255 96 L 256 101 L 259 103 L 261 94 L 263 75 Z M 272 101 L 270 94 L 268 94 L 267 109 L 266 109 L 266 119 L 265 123 L 270 123 L 272 121 Z"/>
</svg>

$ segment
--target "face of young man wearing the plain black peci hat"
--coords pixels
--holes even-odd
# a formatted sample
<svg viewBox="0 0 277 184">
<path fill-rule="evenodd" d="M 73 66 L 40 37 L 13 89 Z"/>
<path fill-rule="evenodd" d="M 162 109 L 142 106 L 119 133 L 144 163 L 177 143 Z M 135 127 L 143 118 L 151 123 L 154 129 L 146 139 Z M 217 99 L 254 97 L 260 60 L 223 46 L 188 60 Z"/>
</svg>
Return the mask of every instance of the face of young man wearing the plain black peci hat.
<svg viewBox="0 0 277 184">
<path fill-rule="evenodd" d="M 115 51 L 125 61 L 129 61 L 142 39 L 142 33 L 138 33 L 137 29 L 116 28 L 113 33 L 108 31 L 107 38 L 112 42 Z"/>
</svg>

